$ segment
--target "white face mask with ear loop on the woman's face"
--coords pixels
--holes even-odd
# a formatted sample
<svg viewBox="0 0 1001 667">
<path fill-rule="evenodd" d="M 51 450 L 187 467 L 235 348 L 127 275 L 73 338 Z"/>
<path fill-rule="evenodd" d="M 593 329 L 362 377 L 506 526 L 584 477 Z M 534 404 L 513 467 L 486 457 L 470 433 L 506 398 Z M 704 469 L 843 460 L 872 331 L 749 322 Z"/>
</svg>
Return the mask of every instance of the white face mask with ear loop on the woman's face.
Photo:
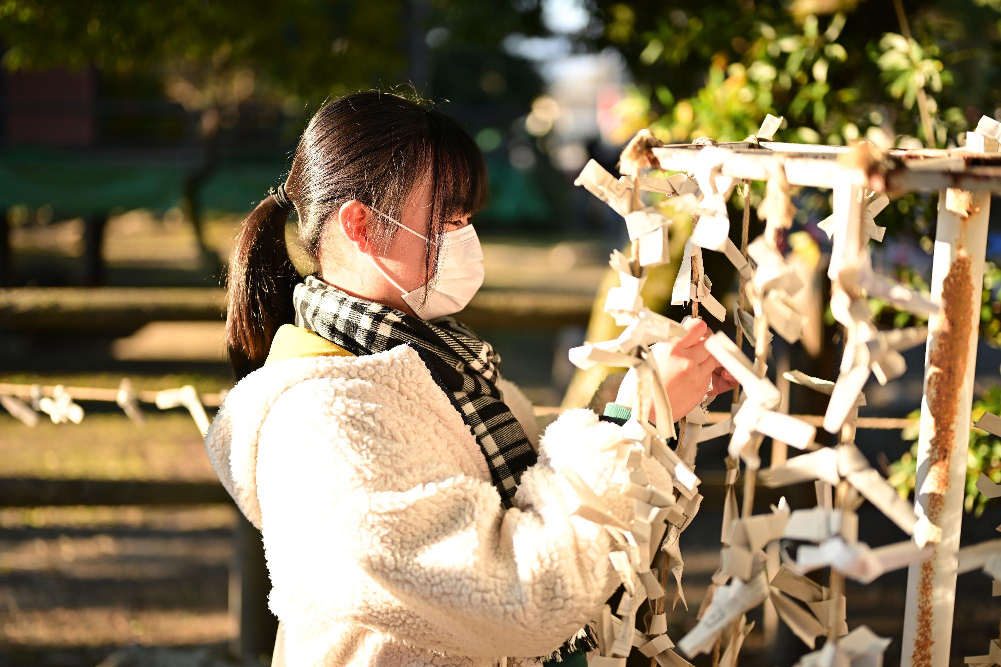
<svg viewBox="0 0 1001 667">
<path fill-rule="evenodd" d="M 369 206 L 369 208 L 372 207 Z M 427 236 L 410 229 L 399 220 L 395 220 L 375 208 L 372 210 L 403 227 L 414 236 L 427 240 Z M 471 224 L 442 234 L 437 268 L 434 271 L 432 284 L 429 286 L 423 284 L 413 291 L 403 289 L 378 265 L 374 257 L 370 254 L 366 256 L 368 261 L 372 262 L 372 265 L 385 276 L 385 279 L 402 292 L 400 296 L 421 319 L 433 319 L 458 312 L 465 307 L 483 283 L 483 250 L 479 245 L 476 230 L 472 228 Z M 421 305 L 420 301 L 424 299 L 424 292 L 427 292 L 427 299 Z"/>
</svg>

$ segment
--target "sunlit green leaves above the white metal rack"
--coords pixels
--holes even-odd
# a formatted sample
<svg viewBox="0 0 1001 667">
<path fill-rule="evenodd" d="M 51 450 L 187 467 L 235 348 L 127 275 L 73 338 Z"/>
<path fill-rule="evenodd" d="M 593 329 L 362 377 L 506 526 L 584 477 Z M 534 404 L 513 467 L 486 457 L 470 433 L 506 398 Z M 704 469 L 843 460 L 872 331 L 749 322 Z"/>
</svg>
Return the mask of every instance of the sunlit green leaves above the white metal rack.
<svg viewBox="0 0 1001 667">
<path fill-rule="evenodd" d="M 791 141 L 945 146 L 1001 105 L 997 3 L 919 0 L 904 15 L 893 2 L 590 1 L 604 17 L 598 44 L 621 51 L 637 82 L 624 135 L 740 140 L 775 113 Z"/>
</svg>

